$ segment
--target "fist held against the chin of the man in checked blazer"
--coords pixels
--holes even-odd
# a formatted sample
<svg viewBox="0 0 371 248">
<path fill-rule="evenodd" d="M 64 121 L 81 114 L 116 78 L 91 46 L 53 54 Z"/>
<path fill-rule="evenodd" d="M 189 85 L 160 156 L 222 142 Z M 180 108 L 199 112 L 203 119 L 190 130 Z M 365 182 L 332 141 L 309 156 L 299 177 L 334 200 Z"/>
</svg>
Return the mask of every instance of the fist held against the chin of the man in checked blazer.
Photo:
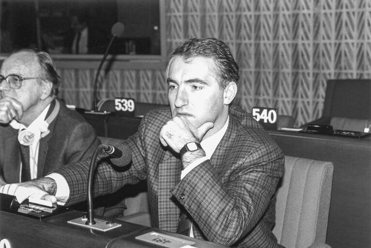
<svg viewBox="0 0 371 248">
<path fill-rule="evenodd" d="M 207 122 L 196 128 L 184 116 L 176 116 L 161 128 L 160 141 L 164 146 L 170 146 L 179 153 L 188 142 L 200 143 L 206 132 L 213 127 L 212 122 Z"/>
</svg>

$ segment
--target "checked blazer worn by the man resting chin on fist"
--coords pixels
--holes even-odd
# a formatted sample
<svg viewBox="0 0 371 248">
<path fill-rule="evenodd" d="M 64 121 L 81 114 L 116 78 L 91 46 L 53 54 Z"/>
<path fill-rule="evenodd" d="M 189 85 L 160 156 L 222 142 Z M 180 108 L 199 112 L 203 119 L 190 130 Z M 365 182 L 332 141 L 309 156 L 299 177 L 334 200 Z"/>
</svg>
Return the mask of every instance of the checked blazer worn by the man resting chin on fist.
<svg viewBox="0 0 371 248">
<path fill-rule="evenodd" d="M 180 211 L 186 209 L 195 238 L 225 246 L 278 247 L 271 228 L 284 155 L 246 111 L 231 106 L 229 115 L 227 131 L 211 159 L 180 180 L 181 158 L 159 141 L 161 127 L 171 119 L 170 109 L 149 112 L 138 132 L 121 144 L 131 148 L 131 163 L 118 171 L 108 160 L 102 162 L 94 194 L 146 179 L 153 227 L 176 232 Z M 67 205 L 86 199 L 88 167 L 88 161 L 81 161 L 56 171 L 70 187 Z"/>
</svg>

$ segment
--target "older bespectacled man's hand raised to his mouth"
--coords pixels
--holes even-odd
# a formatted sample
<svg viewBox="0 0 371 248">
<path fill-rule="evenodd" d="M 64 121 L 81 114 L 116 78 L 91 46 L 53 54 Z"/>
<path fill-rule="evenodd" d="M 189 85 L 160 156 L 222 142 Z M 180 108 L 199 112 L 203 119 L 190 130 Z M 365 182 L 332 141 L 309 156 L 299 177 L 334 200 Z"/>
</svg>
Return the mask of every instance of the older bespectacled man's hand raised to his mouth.
<svg viewBox="0 0 371 248">
<path fill-rule="evenodd" d="M 0 123 L 10 123 L 14 118 L 18 121 L 22 119 L 23 106 L 12 97 L 0 98 Z"/>
</svg>

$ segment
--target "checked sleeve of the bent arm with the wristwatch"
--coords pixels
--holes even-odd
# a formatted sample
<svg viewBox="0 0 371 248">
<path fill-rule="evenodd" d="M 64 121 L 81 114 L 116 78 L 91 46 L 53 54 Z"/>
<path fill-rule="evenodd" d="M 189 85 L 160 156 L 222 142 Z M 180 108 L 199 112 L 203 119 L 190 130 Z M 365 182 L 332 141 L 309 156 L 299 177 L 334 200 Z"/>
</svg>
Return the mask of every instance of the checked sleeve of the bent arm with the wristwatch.
<svg viewBox="0 0 371 248">
<path fill-rule="evenodd" d="M 225 165 L 230 169 L 222 177 L 210 160 L 204 161 L 172 193 L 207 240 L 231 246 L 262 220 L 283 175 L 283 164 L 277 146 L 261 145 L 235 164 Z"/>
</svg>

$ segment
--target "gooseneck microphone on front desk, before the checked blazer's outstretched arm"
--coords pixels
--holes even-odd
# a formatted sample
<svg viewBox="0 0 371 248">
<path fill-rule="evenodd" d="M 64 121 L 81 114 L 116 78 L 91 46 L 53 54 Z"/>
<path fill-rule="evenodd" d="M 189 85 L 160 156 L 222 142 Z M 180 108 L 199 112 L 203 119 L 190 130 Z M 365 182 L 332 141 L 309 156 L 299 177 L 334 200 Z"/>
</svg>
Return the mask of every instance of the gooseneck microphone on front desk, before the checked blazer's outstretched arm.
<svg viewBox="0 0 371 248">
<path fill-rule="evenodd" d="M 85 225 L 92 226 L 96 224 L 94 221 L 94 212 L 93 212 L 93 177 L 94 177 L 94 171 L 97 166 L 96 160 L 98 158 L 98 154 L 100 150 L 104 150 L 106 154 L 110 155 L 113 157 L 111 159 L 111 162 L 115 166 L 126 166 L 127 164 L 130 163 L 132 153 L 131 150 L 128 146 L 123 146 L 122 149 L 120 150 L 119 148 L 113 146 L 113 145 L 105 145 L 105 144 L 100 144 L 98 145 L 97 149 L 94 151 L 92 159 L 90 161 L 90 167 L 89 167 L 89 175 L 88 175 L 88 219 L 85 222 Z"/>
</svg>

